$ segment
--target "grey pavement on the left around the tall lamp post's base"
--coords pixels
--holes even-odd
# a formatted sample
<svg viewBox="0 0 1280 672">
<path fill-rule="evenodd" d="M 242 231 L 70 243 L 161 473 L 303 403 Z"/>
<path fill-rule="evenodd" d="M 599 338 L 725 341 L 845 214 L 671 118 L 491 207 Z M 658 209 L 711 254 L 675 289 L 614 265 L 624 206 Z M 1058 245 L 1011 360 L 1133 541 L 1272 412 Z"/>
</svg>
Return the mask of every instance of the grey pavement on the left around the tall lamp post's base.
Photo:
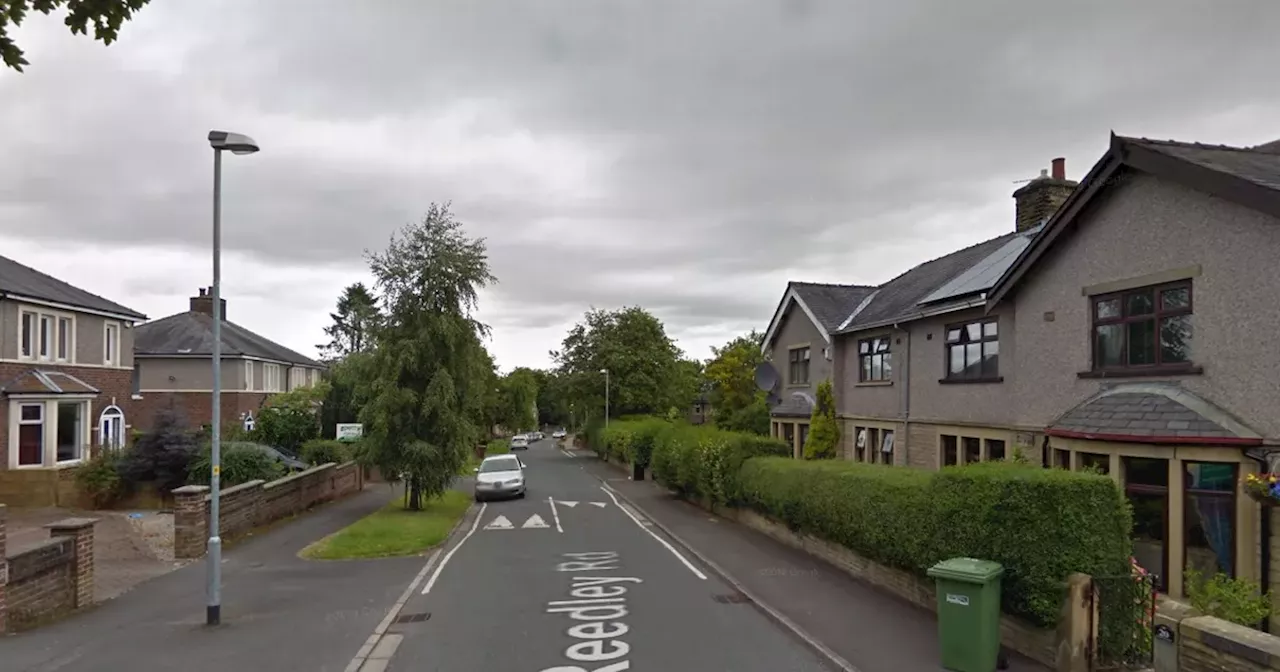
<svg viewBox="0 0 1280 672">
<path fill-rule="evenodd" d="M 342 672 L 425 558 L 316 562 L 297 553 L 394 495 L 370 484 L 228 548 L 221 626 L 205 626 L 198 561 L 84 613 L 0 637 L 0 669 Z"/>
</svg>

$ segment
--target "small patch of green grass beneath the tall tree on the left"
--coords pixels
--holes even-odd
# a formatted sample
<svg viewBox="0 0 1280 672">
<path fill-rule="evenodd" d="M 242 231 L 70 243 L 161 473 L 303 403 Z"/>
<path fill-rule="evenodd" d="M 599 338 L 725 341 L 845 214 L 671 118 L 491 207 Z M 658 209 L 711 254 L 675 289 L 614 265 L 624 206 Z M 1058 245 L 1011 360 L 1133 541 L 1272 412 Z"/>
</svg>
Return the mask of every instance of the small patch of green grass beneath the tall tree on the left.
<svg viewBox="0 0 1280 672">
<path fill-rule="evenodd" d="M 422 511 L 404 511 L 403 498 L 397 498 L 308 545 L 301 556 L 307 559 L 413 556 L 444 541 L 470 506 L 471 497 L 457 490 L 445 490 L 440 498 L 426 502 Z"/>
</svg>

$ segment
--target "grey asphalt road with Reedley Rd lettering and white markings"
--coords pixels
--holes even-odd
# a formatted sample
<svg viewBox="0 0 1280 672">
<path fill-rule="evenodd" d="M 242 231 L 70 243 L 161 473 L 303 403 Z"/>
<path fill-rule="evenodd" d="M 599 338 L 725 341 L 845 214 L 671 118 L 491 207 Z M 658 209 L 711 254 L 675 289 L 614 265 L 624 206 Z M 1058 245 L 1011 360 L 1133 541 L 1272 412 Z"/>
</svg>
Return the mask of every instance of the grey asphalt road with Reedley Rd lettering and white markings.
<svg viewBox="0 0 1280 672">
<path fill-rule="evenodd" d="M 527 497 L 463 521 L 361 669 L 828 669 L 556 442 L 517 454 Z"/>
</svg>

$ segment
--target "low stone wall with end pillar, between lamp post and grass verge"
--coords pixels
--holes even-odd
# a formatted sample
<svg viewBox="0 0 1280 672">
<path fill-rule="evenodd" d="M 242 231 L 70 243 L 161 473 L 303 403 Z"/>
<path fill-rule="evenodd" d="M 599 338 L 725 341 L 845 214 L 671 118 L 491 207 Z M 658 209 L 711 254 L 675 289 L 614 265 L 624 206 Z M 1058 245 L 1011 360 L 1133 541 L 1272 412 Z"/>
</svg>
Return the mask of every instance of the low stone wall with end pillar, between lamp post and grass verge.
<svg viewBox="0 0 1280 672">
<path fill-rule="evenodd" d="M 270 483 L 255 480 L 225 488 L 219 502 L 219 536 L 223 543 L 232 541 L 255 527 L 364 488 L 364 470 L 355 462 L 330 462 Z M 187 485 L 174 490 L 173 495 L 174 557 L 202 557 L 209 540 L 209 486 Z"/>
</svg>

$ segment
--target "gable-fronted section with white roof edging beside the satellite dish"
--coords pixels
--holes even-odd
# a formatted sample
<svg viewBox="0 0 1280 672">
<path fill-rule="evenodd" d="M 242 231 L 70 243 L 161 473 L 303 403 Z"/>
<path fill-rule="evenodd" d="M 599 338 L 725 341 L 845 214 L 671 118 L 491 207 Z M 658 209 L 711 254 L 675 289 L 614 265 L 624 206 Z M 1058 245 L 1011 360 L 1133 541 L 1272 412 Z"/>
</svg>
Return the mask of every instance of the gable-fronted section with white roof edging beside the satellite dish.
<svg viewBox="0 0 1280 672">
<path fill-rule="evenodd" d="M 760 348 L 778 371 L 777 403 L 769 408 L 772 435 L 799 457 L 809 435 L 818 383 L 832 376 L 832 334 L 876 291 L 856 284 L 787 283 Z"/>
</svg>

